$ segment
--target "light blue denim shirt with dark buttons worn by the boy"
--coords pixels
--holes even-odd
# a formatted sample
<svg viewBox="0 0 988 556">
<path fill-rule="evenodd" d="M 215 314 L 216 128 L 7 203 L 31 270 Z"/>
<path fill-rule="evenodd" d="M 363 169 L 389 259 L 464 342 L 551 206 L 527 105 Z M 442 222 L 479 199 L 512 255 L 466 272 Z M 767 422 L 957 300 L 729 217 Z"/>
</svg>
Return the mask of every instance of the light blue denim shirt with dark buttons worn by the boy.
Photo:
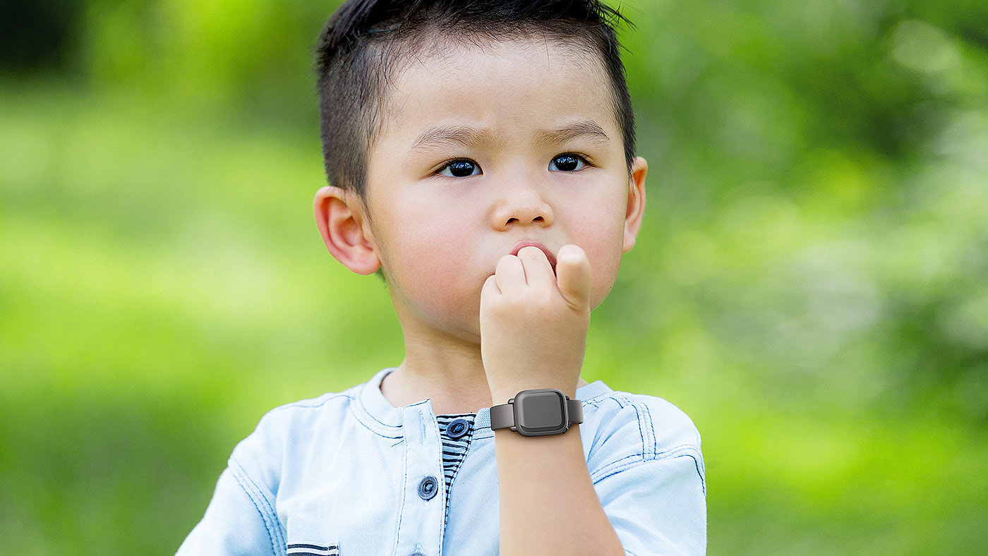
<svg viewBox="0 0 988 556">
<path fill-rule="evenodd" d="M 490 409 L 395 408 L 380 391 L 393 370 L 265 415 L 233 449 L 178 554 L 498 554 Z M 576 399 L 590 477 L 625 552 L 705 553 L 703 458 L 690 418 L 600 380 Z"/>
</svg>

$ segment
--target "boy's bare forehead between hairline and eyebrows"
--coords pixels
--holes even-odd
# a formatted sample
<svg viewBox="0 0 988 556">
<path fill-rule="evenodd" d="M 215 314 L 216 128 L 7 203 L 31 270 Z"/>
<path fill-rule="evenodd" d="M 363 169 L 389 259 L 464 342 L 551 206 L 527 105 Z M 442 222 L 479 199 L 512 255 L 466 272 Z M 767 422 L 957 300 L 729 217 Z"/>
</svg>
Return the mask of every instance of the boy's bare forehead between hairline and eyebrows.
<svg viewBox="0 0 988 556">
<path fill-rule="evenodd" d="M 431 40 L 395 70 L 379 138 L 407 146 L 437 122 L 459 122 L 511 140 L 512 133 L 574 120 L 593 121 L 617 137 L 606 75 L 599 56 L 559 40 Z"/>
</svg>

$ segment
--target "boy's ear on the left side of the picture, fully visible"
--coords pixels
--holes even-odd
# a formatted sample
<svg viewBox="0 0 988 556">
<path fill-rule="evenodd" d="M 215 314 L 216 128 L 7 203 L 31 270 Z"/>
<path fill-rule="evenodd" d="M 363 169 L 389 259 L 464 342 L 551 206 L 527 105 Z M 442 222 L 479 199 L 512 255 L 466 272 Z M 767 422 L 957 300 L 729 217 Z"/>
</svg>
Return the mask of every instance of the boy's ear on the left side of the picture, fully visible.
<svg viewBox="0 0 988 556">
<path fill-rule="evenodd" d="M 356 195 L 326 186 L 315 194 L 315 223 L 326 249 L 359 275 L 372 275 L 380 267 L 364 207 Z"/>
</svg>

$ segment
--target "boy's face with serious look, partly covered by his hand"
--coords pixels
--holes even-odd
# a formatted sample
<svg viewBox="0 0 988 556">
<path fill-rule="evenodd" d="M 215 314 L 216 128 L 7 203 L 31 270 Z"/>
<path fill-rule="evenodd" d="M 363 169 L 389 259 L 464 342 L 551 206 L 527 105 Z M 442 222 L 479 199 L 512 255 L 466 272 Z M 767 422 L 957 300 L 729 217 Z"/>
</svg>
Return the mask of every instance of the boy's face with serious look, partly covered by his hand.
<svg viewBox="0 0 988 556">
<path fill-rule="evenodd" d="M 629 181 L 604 72 L 569 47 L 527 40 L 451 46 L 395 77 L 369 156 L 367 199 L 371 243 L 406 334 L 424 326 L 478 342 L 481 286 L 524 240 L 553 255 L 579 245 L 593 274 L 591 308 L 607 296 L 640 224 L 640 212 L 628 226 L 625 214 L 645 161 L 635 159 Z M 539 131 L 576 123 L 606 137 L 539 141 Z M 435 133 L 416 146 L 436 127 L 489 135 L 463 132 L 464 145 Z M 643 203 L 637 191 L 632 199 Z"/>
</svg>

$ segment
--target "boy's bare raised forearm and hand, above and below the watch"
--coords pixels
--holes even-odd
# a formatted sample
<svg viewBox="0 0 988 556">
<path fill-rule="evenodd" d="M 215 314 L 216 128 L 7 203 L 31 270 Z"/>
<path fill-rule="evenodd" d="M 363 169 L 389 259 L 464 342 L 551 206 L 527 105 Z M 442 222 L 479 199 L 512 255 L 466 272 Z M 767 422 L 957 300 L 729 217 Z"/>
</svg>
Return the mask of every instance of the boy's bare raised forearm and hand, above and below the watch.
<svg viewBox="0 0 988 556">
<path fill-rule="evenodd" d="M 494 403 L 531 388 L 574 398 L 590 324 L 583 250 L 560 249 L 553 273 L 541 250 L 522 248 L 498 262 L 480 297 L 480 351 Z M 624 553 L 594 491 L 578 426 L 549 437 L 499 430 L 495 451 L 502 554 Z"/>
</svg>

